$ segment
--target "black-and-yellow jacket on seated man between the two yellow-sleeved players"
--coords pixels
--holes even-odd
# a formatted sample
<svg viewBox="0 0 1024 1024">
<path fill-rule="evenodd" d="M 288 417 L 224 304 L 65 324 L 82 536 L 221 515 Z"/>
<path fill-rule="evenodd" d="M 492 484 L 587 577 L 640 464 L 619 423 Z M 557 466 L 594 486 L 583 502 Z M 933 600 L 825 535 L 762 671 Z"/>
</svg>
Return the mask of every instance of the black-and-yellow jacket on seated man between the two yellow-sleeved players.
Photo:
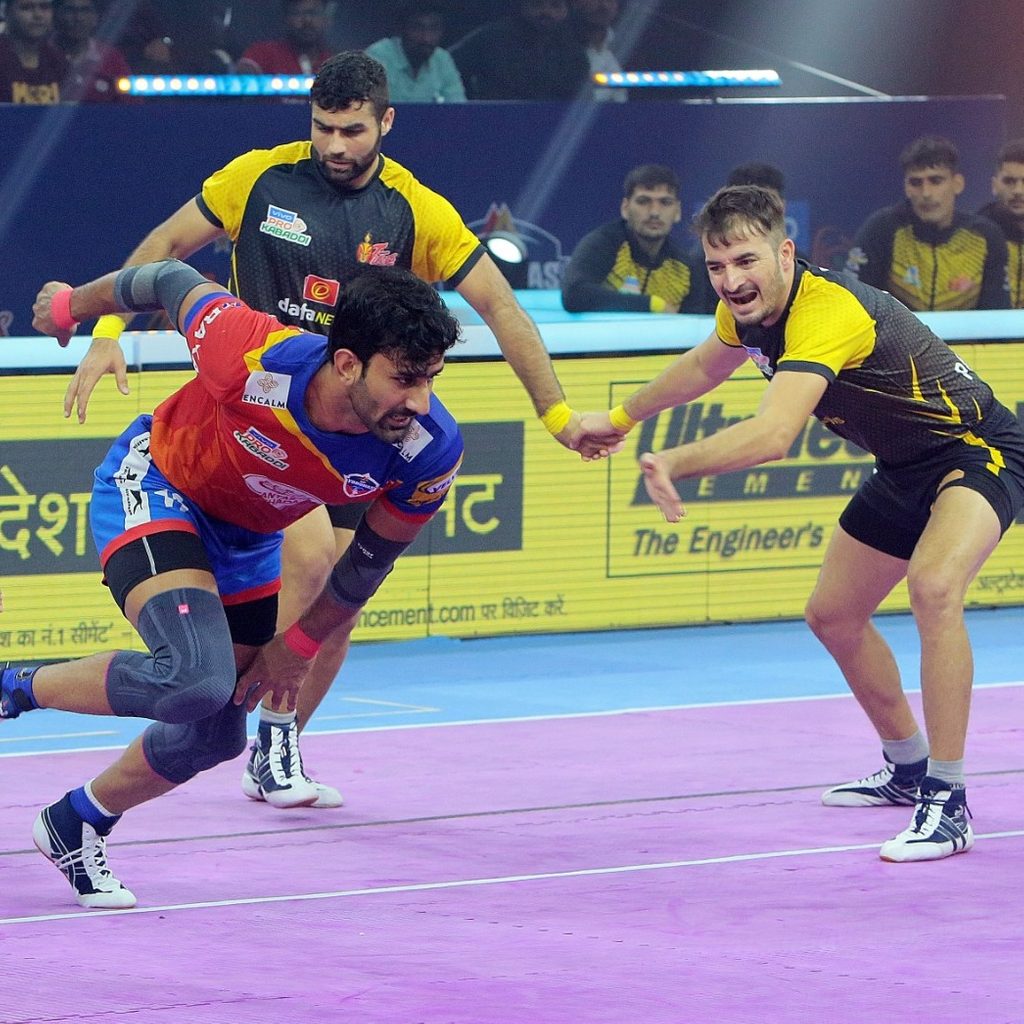
<svg viewBox="0 0 1024 1024">
<path fill-rule="evenodd" d="M 562 305 L 569 312 L 617 310 L 711 312 L 703 260 L 684 253 L 666 239 L 650 257 L 633 238 L 625 220 L 591 231 L 577 246 L 562 280 Z"/>
</svg>

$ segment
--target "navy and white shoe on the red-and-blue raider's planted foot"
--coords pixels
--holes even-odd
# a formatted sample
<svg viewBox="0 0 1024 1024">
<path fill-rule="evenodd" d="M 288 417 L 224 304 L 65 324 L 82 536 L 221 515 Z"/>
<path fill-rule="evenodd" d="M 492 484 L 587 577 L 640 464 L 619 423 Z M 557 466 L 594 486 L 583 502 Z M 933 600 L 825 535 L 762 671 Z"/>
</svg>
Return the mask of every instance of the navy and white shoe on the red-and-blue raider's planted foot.
<svg viewBox="0 0 1024 1024">
<path fill-rule="evenodd" d="M 124 910 L 135 905 L 135 894 L 106 866 L 106 837 L 79 817 L 68 797 L 39 812 L 32 840 L 71 883 L 80 906 Z"/>
</svg>

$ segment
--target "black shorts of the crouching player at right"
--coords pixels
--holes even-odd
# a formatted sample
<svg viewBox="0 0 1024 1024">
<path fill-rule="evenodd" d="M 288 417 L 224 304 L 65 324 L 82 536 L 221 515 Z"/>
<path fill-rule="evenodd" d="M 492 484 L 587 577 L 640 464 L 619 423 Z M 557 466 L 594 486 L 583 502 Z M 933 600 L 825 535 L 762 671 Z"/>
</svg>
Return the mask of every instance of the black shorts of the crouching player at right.
<svg viewBox="0 0 1024 1024">
<path fill-rule="evenodd" d="M 1008 410 L 996 407 L 978 435 L 984 444 L 958 442 L 904 466 L 879 463 L 843 510 L 840 525 L 861 544 L 909 561 L 942 480 L 962 470 L 964 476 L 947 485 L 980 494 L 1005 534 L 1024 509 L 1024 431 Z M 992 470 L 993 450 L 1005 463 L 998 472 Z"/>
</svg>

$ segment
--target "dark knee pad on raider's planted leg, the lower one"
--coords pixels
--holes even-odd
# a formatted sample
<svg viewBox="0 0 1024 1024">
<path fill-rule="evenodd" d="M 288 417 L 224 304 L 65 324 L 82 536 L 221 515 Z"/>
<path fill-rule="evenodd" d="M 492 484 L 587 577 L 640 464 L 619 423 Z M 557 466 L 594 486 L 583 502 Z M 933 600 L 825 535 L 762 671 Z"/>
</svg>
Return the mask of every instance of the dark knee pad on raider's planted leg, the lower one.
<svg viewBox="0 0 1024 1024">
<path fill-rule="evenodd" d="M 200 722 L 154 722 L 142 735 L 142 751 L 158 775 L 181 783 L 221 761 L 237 758 L 247 742 L 246 709 L 228 702 Z"/>
</svg>

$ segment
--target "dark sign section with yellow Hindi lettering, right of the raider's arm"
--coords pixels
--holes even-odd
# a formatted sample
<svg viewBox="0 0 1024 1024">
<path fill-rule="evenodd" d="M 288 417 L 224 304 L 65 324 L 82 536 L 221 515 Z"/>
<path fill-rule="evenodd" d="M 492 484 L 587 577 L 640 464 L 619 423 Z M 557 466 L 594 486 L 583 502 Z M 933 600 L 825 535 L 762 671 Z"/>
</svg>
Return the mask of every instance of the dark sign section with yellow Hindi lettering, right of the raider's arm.
<svg viewBox="0 0 1024 1024">
<path fill-rule="evenodd" d="M 523 424 L 460 424 L 466 455 L 414 555 L 522 549 Z M 445 477 L 436 486 L 443 486 Z M 436 492 L 434 492 L 436 494 Z"/>
</svg>

